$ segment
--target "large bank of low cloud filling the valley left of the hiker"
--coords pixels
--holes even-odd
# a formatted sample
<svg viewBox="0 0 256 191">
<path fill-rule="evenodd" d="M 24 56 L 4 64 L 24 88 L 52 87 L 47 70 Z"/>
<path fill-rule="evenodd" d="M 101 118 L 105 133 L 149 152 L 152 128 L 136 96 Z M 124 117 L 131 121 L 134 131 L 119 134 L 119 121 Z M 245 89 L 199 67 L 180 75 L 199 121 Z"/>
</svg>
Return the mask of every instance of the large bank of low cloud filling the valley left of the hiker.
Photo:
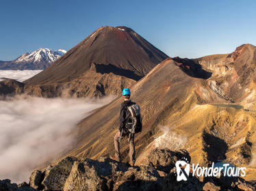
<svg viewBox="0 0 256 191">
<path fill-rule="evenodd" d="M 113 97 L 0 100 L 0 179 L 28 181 L 31 171 L 75 142 L 76 124 Z"/>
</svg>

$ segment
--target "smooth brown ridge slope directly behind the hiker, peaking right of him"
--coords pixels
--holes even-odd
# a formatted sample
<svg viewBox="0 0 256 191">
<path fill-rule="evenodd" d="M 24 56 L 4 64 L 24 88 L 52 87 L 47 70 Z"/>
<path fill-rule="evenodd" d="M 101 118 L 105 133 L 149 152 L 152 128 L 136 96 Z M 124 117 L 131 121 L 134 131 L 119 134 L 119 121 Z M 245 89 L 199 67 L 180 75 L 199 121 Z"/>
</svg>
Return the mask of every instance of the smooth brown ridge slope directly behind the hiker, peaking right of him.
<svg viewBox="0 0 256 191">
<path fill-rule="evenodd" d="M 138 155 L 154 140 L 153 137 L 159 132 L 158 126 L 164 125 L 170 113 L 186 111 L 194 102 L 199 102 L 196 91 L 202 87 L 203 79 L 188 76 L 177 64 L 172 59 L 166 59 L 131 88 L 132 100 L 140 104 L 144 123 L 143 132 L 136 137 Z M 211 89 L 205 89 L 209 91 L 205 101 L 225 102 Z M 73 155 L 97 158 L 113 153 L 113 137 L 118 128 L 121 102 L 123 98 L 118 98 L 79 123 L 77 146 L 71 151 Z M 124 150 L 127 151 L 127 146 Z"/>
</svg>

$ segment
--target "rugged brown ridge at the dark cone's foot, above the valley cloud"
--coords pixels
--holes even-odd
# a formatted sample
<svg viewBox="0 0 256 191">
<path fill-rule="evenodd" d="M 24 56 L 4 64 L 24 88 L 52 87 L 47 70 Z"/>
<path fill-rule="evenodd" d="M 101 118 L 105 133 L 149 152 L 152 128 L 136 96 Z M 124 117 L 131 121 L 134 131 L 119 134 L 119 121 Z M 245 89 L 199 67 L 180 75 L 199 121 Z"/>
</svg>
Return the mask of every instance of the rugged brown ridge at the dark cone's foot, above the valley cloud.
<svg viewBox="0 0 256 191">
<path fill-rule="evenodd" d="M 12 79 L 3 80 L 0 81 L 0 95 L 26 93 L 27 95 L 44 98 L 69 98 L 71 96 L 75 98 L 94 98 L 102 95 L 120 94 L 122 87 L 131 87 L 136 83 L 136 80 L 112 72 L 101 74 L 97 72 L 93 65 L 79 78 L 65 84 L 26 85 Z"/>
</svg>

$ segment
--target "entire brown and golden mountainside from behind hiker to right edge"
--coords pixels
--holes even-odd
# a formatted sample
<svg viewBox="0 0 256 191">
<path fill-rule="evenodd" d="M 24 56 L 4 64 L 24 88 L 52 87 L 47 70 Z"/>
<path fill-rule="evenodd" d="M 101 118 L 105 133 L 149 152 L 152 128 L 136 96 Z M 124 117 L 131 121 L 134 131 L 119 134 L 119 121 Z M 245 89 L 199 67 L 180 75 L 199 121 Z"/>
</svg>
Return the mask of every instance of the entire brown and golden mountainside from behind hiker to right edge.
<svg viewBox="0 0 256 191">
<path fill-rule="evenodd" d="M 227 55 L 166 59 L 133 85 L 131 99 L 140 104 L 144 123 L 142 133 L 136 136 L 137 164 L 155 147 L 187 149 L 192 163 L 224 160 L 246 166 L 245 178 L 255 179 L 255 73 L 247 75 L 254 68 L 252 50 L 255 46 L 246 44 Z M 233 90 L 214 88 L 216 79 Z M 222 83 L 217 82 L 220 87 Z M 83 119 L 78 124 L 77 145 L 65 156 L 113 154 L 122 101 L 117 98 Z M 121 147 L 127 160 L 126 141 Z"/>
</svg>

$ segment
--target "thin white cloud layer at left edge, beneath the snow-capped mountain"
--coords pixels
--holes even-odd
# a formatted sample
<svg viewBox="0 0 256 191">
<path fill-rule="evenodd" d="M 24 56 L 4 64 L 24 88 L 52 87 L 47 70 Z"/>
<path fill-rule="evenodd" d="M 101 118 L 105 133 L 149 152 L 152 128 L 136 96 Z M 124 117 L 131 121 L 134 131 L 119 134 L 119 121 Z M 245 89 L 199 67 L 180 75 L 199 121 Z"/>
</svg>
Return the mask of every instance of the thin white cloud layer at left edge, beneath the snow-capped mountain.
<svg viewBox="0 0 256 191">
<path fill-rule="evenodd" d="M 0 80 L 5 78 L 12 78 L 14 80 L 23 82 L 32 76 L 35 76 L 42 70 L 0 70 Z"/>
</svg>

